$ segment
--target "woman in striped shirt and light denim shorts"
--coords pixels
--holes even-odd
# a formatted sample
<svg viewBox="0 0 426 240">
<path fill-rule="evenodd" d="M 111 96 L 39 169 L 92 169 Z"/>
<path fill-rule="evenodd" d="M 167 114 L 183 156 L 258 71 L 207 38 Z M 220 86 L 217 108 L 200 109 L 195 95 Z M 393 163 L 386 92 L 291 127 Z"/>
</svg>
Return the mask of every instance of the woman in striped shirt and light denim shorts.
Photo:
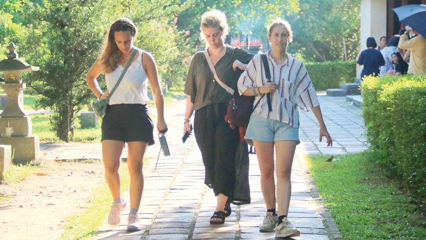
<svg viewBox="0 0 426 240">
<path fill-rule="evenodd" d="M 260 54 L 253 58 L 238 81 L 240 94 L 255 95 L 255 103 L 262 94 L 271 94 L 272 111 L 268 108 L 267 97 L 262 97 L 250 117 L 246 141 L 256 149 L 261 171 L 261 188 L 267 207 L 266 217 L 259 228 L 260 231 L 272 231 L 275 228 L 276 237 L 300 235 L 300 231 L 287 220 L 291 197 L 291 167 L 296 145 L 300 143 L 298 108 L 306 111 L 312 109 L 320 126 L 320 142 L 325 137 L 327 146 L 333 144 L 305 66 L 286 52 L 292 37 L 293 32 L 287 21 L 274 21 L 268 34 L 272 51 L 266 53 L 271 82 L 268 82 L 265 76 Z M 277 196 L 274 147 L 277 159 Z M 275 208 L 276 198 L 278 214 Z"/>
</svg>

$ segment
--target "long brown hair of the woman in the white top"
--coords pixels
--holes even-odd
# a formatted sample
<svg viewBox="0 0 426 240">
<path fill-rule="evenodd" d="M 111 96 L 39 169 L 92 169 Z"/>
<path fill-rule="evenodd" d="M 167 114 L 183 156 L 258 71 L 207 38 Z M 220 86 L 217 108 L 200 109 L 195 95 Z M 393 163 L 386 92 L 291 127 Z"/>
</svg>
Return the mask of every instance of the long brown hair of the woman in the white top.
<svg viewBox="0 0 426 240">
<path fill-rule="evenodd" d="M 136 36 L 137 30 L 134 23 L 128 18 L 121 18 L 115 21 L 108 29 L 104 44 L 101 49 L 102 64 L 105 67 L 105 73 L 110 73 L 117 68 L 121 51 L 115 43 L 114 35 L 116 32 L 128 31 L 133 37 Z"/>
</svg>

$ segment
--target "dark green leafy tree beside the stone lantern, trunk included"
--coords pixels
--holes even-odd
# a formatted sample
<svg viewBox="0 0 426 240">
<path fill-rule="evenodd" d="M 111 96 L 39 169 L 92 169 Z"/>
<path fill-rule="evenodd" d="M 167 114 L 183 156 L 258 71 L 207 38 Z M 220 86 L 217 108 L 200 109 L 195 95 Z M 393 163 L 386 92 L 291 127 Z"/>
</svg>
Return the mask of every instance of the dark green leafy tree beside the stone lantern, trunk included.
<svg viewBox="0 0 426 240">
<path fill-rule="evenodd" d="M 114 8 L 115 7 L 115 8 Z M 114 18 L 113 1 L 27 2 L 27 59 L 40 71 L 25 78 L 38 106 L 54 110 L 51 123 L 60 140 L 73 136 L 76 113 L 91 98 L 85 74 L 97 57 L 105 26 Z"/>
</svg>

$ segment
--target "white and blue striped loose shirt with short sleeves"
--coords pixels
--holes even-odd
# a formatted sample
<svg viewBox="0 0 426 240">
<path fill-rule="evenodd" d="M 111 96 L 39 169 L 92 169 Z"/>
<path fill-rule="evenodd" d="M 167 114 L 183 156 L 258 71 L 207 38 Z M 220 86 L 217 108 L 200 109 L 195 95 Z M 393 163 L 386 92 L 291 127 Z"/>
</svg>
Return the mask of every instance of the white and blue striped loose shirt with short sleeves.
<svg viewBox="0 0 426 240">
<path fill-rule="evenodd" d="M 272 111 L 268 110 L 266 96 L 262 97 L 255 111 L 263 117 L 299 128 L 298 108 L 308 111 L 313 106 L 319 106 L 314 85 L 305 65 L 300 60 L 287 55 L 286 62 L 283 65 L 277 65 L 270 53 L 271 51 L 268 51 L 266 55 L 271 81 L 278 84 L 278 89 L 271 94 Z M 240 76 L 238 90 L 242 94 L 247 88 L 261 87 L 267 81 L 261 55 L 257 54 Z M 260 97 L 261 95 L 256 96 L 254 104 Z"/>
</svg>

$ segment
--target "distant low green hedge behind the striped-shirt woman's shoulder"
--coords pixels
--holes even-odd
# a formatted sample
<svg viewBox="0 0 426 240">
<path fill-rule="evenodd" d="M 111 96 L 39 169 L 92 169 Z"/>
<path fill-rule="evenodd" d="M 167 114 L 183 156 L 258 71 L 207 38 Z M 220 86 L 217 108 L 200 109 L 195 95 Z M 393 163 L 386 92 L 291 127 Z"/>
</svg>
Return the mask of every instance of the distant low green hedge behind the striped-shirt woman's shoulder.
<svg viewBox="0 0 426 240">
<path fill-rule="evenodd" d="M 317 91 L 340 88 L 340 83 L 353 82 L 355 61 L 305 63 Z"/>
</svg>

